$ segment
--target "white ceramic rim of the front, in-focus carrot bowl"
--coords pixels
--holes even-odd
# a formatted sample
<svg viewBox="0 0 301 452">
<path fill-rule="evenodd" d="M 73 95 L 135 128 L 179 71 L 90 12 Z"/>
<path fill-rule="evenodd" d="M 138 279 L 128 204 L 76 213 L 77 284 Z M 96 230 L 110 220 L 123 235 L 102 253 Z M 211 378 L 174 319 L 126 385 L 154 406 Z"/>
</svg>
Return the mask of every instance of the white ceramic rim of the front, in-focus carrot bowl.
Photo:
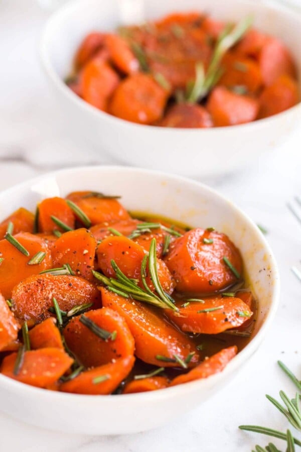
<svg viewBox="0 0 301 452">
<path fill-rule="evenodd" d="M 160 172 L 160 171 L 152 171 L 152 170 L 145 170 L 145 169 L 141 169 L 141 168 L 132 168 L 132 167 L 126 167 L 126 166 L 94 166 L 94 167 L 81 167 L 81 168 L 69 168 L 69 169 L 62 169 L 59 171 L 54 171 L 51 173 L 47 173 L 46 175 L 42 175 L 42 176 L 38 176 L 36 178 L 33 178 L 29 181 L 23 182 L 21 184 L 15 185 L 7 190 L 5 190 L 6 195 L 9 197 L 10 194 L 13 194 L 13 191 L 15 191 L 16 188 L 21 188 L 23 186 L 27 186 L 28 184 L 36 184 L 39 183 L 40 181 L 42 181 L 45 177 L 51 177 L 51 176 L 56 176 L 59 175 L 61 173 L 64 173 L 66 175 L 66 177 L 68 177 L 68 174 L 74 174 L 76 172 L 81 173 L 82 171 L 85 172 L 95 172 L 97 171 L 97 169 L 99 170 L 104 170 L 105 168 L 107 168 L 109 171 L 120 171 L 122 169 L 122 171 L 124 172 L 132 172 L 132 173 L 145 173 L 148 175 L 159 175 L 164 177 L 166 180 L 170 180 L 170 181 L 177 181 L 177 182 L 181 182 L 182 184 L 187 184 L 190 186 L 194 186 L 194 187 L 200 187 L 202 188 L 204 191 L 207 191 L 208 193 L 213 194 L 214 196 L 220 198 L 221 200 L 225 201 L 225 202 L 229 202 L 229 200 L 220 195 L 216 190 L 208 187 L 205 184 L 202 184 L 200 182 L 182 177 L 182 176 L 174 176 L 174 175 L 170 175 L 164 172 Z M 76 189 L 76 187 L 74 187 Z M 156 400 L 162 400 L 164 398 L 170 398 L 170 397 L 176 397 L 177 395 L 179 395 L 180 393 L 182 395 L 185 395 L 187 393 L 190 392 L 190 390 L 192 388 L 196 388 L 199 387 L 200 389 L 204 389 L 206 388 L 206 382 L 210 381 L 210 383 L 214 382 L 215 385 L 218 385 L 228 374 L 231 374 L 232 371 L 238 369 L 248 358 L 251 357 L 251 355 L 256 351 L 257 347 L 259 346 L 259 344 L 261 343 L 267 329 L 269 328 L 273 317 L 275 315 L 277 306 L 278 306 L 278 300 L 279 300 L 279 293 L 280 293 L 280 283 L 279 283 L 279 274 L 278 274 L 278 269 L 277 269 L 277 265 L 275 262 L 275 259 L 273 257 L 273 254 L 271 252 L 271 249 L 266 241 L 266 239 L 263 237 L 262 233 L 260 232 L 260 230 L 258 229 L 257 225 L 245 214 L 243 213 L 238 207 L 236 207 L 235 205 L 232 205 L 232 208 L 234 211 L 236 211 L 236 213 L 238 213 L 241 217 L 244 218 L 244 220 L 246 221 L 248 228 L 253 230 L 253 233 L 257 236 L 257 239 L 259 242 L 261 242 L 264 245 L 264 248 L 266 250 L 266 252 L 269 255 L 269 265 L 270 265 L 270 269 L 272 271 L 272 273 L 274 274 L 274 285 L 272 290 L 272 302 L 269 308 L 269 311 L 264 319 L 264 322 L 262 324 L 262 326 L 260 327 L 260 329 L 258 330 L 258 332 L 256 333 L 256 335 L 250 340 L 250 342 L 247 344 L 247 346 L 241 351 L 239 352 L 235 358 L 233 358 L 232 361 L 230 361 L 230 363 L 226 366 L 226 368 L 218 374 L 215 374 L 207 379 L 202 379 L 202 380 L 196 380 L 196 381 L 192 381 L 190 383 L 185 383 L 182 385 L 178 385 L 178 386 L 173 386 L 170 388 L 165 388 L 165 389 L 161 389 L 161 390 L 157 390 L 157 391 L 150 391 L 150 392 L 144 392 L 144 393 L 136 393 L 136 394 L 120 394 L 120 395 L 86 395 L 86 394 L 69 394 L 69 393 L 64 393 L 64 392 L 56 392 L 56 391 L 50 391 L 50 390 L 46 390 L 46 389 L 41 389 L 41 388 L 36 388 L 34 386 L 30 386 L 18 381 L 15 381 L 9 377 L 6 377 L 4 375 L 0 374 L 0 385 L 2 386 L 6 386 L 6 387 L 10 387 L 11 389 L 14 390 L 15 393 L 23 393 L 27 392 L 28 394 L 32 394 L 33 396 L 36 395 L 39 397 L 39 399 L 43 399 L 47 402 L 52 401 L 53 403 L 56 402 L 56 400 L 62 400 L 62 399 L 70 399 L 70 398 L 77 398 L 80 399 L 80 401 L 84 401 L 84 399 L 88 398 L 95 398 L 97 400 L 99 400 L 99 402 L 101 403 L 101 400 L 103 398 L 105 398 L 106 400 L 111 399 L 112 401 L 114 400 L 115 402 L 117 402 L 118 400 L 120 400 L 120 397 L 122 397 L 122 400 L 125 400 L 124 397 L 126 397 L 127 399 L 141 399 L 140 401 L 145 401 L 145 403 L 147 403 L 148 400 L 152 399 L 152 401 L 156 401 Z"/>
</svg>

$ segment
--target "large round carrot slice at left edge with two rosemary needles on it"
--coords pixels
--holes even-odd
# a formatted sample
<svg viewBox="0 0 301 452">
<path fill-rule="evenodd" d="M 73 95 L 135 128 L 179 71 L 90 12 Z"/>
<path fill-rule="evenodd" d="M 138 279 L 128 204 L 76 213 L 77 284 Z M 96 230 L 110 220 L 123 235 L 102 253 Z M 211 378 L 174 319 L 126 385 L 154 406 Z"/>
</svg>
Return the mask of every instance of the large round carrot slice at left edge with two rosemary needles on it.
<svg viewBox="0 0 301 452">
<path fill-rule="evenodd" d="M 11 298 L 14 286 L 20 281 L 52 267 L 51 253 L 43 239 L 30 233 L 19 233 L 14 238 L 29 255 L 23 254 L 6 239 L 0 241 L 0 257 L 3 258 L 0 264 L 0 291 L 6 298 Z M 43 261 L 29 265 L 38 252 L 45 253 Z"/>
</svg>

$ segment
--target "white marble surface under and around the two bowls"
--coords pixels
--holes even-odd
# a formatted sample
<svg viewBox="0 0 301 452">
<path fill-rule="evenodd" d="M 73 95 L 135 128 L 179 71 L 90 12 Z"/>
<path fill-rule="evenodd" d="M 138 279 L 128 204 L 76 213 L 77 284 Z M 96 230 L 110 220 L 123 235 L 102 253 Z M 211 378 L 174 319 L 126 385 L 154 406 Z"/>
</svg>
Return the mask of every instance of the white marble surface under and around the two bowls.
<svg viewBox="0 0 301 452">
<path fill-rule="evenodd" d="M 93 164 L 96 160 L 95 150 L 89 152 L 84 141 L 72 138 L 40 70 L 37 42 L 47 17 L 48 12 L 31 0 L 0 2 L 0 189 L 49 168 Z M 293 395 L 292 384 L 276 366 L 278 359 L 301 376 L 301 284 L 289 270 L 301 258 L 301 228 L 285 205 L 295 194 L 301 195 L 300 138 L 301 129 L 285 146 L 262 155 L 239 174 L 209 181 L 268 229 L 267 239 L 281 273 L 281 300 L 274 324 L 236 379 L 178 421 L 134 435 L 71 436 L 35 428 L 0 413 L 0 450 L 250 451 L 256 443 L 267 444 L 267 438 L 241 432 L 239 424 L 286 429 L 286 422 L 264 395 L 277 396 L 279 389 Z M 111 163 L 106 156 L 99 161 Z M 275 443 L 284 450 L 281 441 Z"/>
</svg>

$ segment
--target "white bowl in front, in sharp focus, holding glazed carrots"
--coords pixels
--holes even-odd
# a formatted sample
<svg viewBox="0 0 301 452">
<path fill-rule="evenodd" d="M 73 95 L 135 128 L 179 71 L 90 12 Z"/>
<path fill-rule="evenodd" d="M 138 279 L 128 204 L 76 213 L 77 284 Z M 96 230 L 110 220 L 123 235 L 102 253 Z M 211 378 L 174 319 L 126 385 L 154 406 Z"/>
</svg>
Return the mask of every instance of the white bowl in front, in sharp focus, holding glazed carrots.
<svg viewBox="0 0 301 452">
<path fill-rule="evenodd" d="M 259 302 L 254 335 L 222 373 L 149 393 L 66 394 L 0 375 L 0 409 L 34 425 L 70 433 L 122 434 L 157 427 L 219 391 L 258 348 L 278 302 L 274 258 L 256 224 L 231 202 L 205 185 L 161 172 L 105 166 L 61 170 L 0 193 L 0 211 L 5 218 L 21 205 L 34 210 L 44 197 L 73 190 L 117 193 L 130 210 L 165 215 L 194 227 L 214 226 L 228 234 L 242 253 Z"/>
</svg>

